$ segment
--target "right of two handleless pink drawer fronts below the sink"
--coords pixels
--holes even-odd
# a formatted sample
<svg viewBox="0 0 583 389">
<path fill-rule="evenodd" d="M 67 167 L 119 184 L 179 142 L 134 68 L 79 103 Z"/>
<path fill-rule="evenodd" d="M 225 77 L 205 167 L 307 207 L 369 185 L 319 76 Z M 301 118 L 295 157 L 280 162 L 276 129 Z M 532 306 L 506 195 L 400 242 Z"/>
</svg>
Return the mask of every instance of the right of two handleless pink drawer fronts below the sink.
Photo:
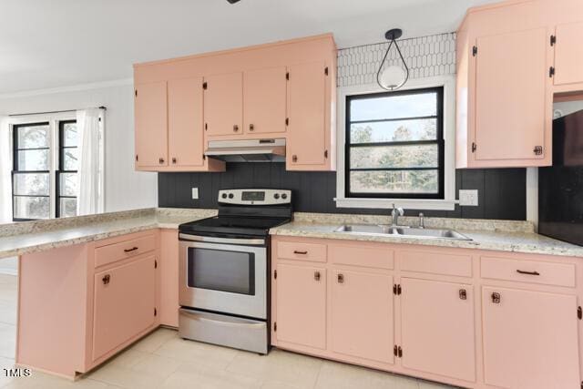
<svg viewBox="0 0 583 389">
<path fill-rule="evenodd" d="M 472 257 L 469 255 L 430 251 L 397 251 L 396 255 L 402 271 L 472 276 Z"/>
</svg>

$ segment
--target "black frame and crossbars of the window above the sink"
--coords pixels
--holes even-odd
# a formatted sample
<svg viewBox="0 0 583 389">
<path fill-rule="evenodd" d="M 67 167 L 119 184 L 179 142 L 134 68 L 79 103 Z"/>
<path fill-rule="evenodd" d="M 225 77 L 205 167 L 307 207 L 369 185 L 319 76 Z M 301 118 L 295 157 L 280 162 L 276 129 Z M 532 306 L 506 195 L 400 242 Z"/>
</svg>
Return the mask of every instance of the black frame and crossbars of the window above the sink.
<svg viewBox="0 0 583 389">
<path fill-rule="evenodd" d="M 437 109 L 435 116 L 422 116 L 411 118 L 384 118 L 384 119 L 369 119 L 369 120 L 351 120 L 351 104 L 354 100 L 365 100 L 378 97 L 390 96 L 404 96 L 404 95 L 421 95 L 425 93 L 437 94 Z M 346 198 L 373 198 L 373 199 L 412 199 L 412 200 L 443 200 L 445 199 L 445 139 L 444 139 L 444 87 L 423 87 L 416 89 L 398 90 L 393 92 L 378 92 L 365 95 L 350 95 L 346 96 L 345 105 L 345 141 L 344 141 L 344 196 Z M 371 122 L 388 122 L 388 121 L 402 121 L 412 119 L 435 118 L 437 135 L 435 140 L 412 140 L 412 141 L 396 141 L 396 142 L 373 142 L 373 143 L 358 143 L 351 144 L 351 125 L 354 123 L 371 123 Z M 375 147 L 375 146 L 406 146 L 406 145 L 437 145 L 437 192 L 436 193 L 378 193 L 378 192 L 351 192 L 350 189 L 350 173 L 351 171 L 414 171 L 414 170 L 435 170 L 435 168 L 366 168 L 366 169 L 351 169 L 350 157 L 351 148 L 358 147 Z"/>
</svg>

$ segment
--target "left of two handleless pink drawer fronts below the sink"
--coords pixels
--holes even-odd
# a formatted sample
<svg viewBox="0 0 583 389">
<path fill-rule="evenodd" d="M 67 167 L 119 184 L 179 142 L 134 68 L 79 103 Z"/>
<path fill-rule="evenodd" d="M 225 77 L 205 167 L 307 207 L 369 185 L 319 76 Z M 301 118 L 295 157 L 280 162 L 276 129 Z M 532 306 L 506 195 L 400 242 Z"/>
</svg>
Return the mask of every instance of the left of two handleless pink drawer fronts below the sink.
<svg viewBox="0 0 583 389">
<path fill-rule="evenodd" d="M 332 263 L 379 269 L 394 268 L 394 251 L 386 247 L 334 244 L 330 245 L 329 251 Z"/>
</svg>

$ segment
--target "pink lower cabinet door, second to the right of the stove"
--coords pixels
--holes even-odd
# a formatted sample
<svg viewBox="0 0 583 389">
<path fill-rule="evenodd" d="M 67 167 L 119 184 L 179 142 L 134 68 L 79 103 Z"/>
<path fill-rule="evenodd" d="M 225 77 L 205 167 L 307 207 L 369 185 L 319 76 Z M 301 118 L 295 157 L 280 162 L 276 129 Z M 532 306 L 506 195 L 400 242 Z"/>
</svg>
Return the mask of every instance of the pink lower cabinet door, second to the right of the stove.
<svg viewBox="0 0 583 389">
<path fill-rule="evenodd" d="M 332 351 L 394 363 L 393 277 L 343 270 L 332 276 Z"/>
</svg>

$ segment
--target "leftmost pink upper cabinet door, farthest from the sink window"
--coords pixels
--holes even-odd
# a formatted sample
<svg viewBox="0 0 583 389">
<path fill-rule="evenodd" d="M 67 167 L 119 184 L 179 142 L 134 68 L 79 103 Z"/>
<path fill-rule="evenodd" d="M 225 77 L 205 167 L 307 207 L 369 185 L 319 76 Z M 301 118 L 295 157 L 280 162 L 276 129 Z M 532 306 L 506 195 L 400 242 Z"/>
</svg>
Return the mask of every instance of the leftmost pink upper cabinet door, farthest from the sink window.
<svg viewBox="0 0 583 389">
<path fill-rule="evenodd" d="M 137 85 L 135 100 L 136 166 L 168 166 L 166 82 Z"/>
</svg>

